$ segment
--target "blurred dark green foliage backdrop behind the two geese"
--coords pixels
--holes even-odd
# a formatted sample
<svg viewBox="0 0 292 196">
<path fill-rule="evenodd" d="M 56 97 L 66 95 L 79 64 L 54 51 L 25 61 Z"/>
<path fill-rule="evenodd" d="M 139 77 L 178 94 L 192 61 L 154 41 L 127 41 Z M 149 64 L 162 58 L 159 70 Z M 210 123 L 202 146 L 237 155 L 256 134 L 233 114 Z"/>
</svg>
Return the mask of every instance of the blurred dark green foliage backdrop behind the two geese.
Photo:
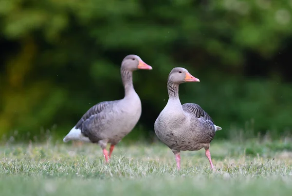
<svg viewBox="0 0 292 196">
<path fill-rule="evenodd" d="M 120 99 L 137 54 L 143 112 L 127 136 L 151 138 L 170 70 L 222 127 L 216 138 L 292 128 L 292 0 L 0 0 L 0 136 L 62 138 L 94 104 Z M 148 137 L 149 136 L 149 137 Z"/>
</svg>

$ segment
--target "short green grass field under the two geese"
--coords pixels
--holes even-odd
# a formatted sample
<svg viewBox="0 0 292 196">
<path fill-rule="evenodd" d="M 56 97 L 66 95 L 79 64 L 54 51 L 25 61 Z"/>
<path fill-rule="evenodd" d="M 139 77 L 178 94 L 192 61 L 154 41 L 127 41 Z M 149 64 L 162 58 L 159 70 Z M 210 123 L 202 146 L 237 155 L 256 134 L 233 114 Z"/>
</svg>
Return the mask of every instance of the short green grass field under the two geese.
<svg viewBox="0 0 292 196">
<path fill-rule="evenodd" d="M 109 164 L 97 145 L 0 146 L 0 196 L 280 196 L 292 192 L 292 142 L 217 141 L 174 155 L 158 144 L 121 143 Z"/>
</svg>

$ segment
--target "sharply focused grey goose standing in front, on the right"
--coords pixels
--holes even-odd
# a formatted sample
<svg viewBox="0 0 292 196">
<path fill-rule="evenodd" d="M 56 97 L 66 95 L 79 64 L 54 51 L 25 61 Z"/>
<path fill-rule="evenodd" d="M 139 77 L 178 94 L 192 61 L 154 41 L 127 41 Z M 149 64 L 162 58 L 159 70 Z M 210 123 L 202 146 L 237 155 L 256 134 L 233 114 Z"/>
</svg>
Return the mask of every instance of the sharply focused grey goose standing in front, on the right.
<svg viewBox="0 0 292 196">
<path fill-rule="evenodd" d="M 168 101 L 157 117 L 154 130 L 157 137 L 175 154 L 177 167 L 181 168 L 181 150 L 206 150 L 211 169 L 214 165 L 209 151 L 215 132 L 221 130 L 212 118 L 195 103 L 181 104 L 179 85 L 183 82 L 200 82 L 185 68 L 175 67 L 167 81 Z"/>
</svg>

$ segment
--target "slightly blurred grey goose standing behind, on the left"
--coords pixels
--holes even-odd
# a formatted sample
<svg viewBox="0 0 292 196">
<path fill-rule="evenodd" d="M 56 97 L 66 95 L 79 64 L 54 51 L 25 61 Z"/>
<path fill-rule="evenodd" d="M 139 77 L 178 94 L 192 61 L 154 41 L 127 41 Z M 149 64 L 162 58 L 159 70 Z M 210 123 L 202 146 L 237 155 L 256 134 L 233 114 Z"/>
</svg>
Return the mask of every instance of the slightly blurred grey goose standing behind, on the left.
<svg viewBox="0 0 292 196">
<path fill-rule="evenodd" d="M 64 137 L 63 141 L 80 140 L 98 143 L 109 162 L 114 146 L 137 124 L 141 116 L 141 101 L 133 87 L 132 73 L 137 69 L 152 69 L 137 55 L 128 55 L 121 65 L 125 97 L 119 100 L 103 101 L 92 106 Z M 106 150 L 110 143 L 110 154 Z"/>
</svg>

